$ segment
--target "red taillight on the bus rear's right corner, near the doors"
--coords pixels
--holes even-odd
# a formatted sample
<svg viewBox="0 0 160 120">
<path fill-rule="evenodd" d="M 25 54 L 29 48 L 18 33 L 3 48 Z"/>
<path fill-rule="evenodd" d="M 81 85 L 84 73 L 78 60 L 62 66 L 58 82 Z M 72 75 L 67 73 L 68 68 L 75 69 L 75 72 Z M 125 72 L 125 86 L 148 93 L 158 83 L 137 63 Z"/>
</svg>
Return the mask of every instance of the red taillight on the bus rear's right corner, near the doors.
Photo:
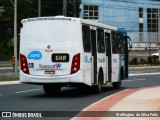
<svg viewBox="0 0 160 120">
<path fill-rule="evenodd" d="M 80 69 L 80 53 L 73 56 L 71 74 L 78 72 Z"/>
</svg>

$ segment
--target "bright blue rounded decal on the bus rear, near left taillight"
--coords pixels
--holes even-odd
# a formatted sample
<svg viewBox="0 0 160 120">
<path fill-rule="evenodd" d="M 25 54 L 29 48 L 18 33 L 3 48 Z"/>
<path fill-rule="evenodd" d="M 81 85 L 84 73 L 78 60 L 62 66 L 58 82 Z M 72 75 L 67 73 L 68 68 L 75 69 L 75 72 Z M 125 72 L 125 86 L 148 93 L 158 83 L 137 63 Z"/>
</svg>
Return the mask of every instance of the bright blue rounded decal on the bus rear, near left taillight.
<svg viewBox="0 0 160 120">
<path fill-rule="evenodd" d="M 40 60 L 42 58 L 42 53 L 39 51 L 32 51 L 28 54 L 28 59 Z"/>
</svg>

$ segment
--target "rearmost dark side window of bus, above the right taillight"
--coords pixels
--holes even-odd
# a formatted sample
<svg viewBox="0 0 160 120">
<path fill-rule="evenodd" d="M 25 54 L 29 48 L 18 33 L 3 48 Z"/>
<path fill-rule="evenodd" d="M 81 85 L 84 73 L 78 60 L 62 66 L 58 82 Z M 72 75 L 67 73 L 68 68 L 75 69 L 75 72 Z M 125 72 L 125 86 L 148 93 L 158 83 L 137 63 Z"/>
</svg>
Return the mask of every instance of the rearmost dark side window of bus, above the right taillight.
<svg viewBox="0 0 160 120">
<path fill-rule="evenodd" d="M 82 26 L 82 36 L 83 36 L 83 47 L 84 52 L 91 52 L 91 42 L 90 42 L 90 27 Z"/>
</svg>

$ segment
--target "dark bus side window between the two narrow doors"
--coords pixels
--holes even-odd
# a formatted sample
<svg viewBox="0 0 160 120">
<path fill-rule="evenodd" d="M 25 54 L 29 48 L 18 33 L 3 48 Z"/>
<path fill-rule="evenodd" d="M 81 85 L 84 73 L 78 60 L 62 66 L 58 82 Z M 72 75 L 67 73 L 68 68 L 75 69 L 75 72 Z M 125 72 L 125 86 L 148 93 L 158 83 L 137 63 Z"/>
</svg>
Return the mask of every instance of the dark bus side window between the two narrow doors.
<svg viewBox="0 0 160 120">
<path fill-rule="evenodd" d="M 98 53 L 105 53 L 105 44 L 104 44 L 104 30 L 97 29 L 97 49 Z"/>
</svg>

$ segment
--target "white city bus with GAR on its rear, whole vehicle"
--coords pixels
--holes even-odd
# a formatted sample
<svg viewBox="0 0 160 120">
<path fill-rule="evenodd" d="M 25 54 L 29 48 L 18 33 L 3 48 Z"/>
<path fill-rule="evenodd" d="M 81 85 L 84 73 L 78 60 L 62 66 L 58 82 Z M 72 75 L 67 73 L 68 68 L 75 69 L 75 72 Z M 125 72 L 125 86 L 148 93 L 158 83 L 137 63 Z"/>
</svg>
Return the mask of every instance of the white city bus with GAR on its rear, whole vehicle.
<svg viewBox="0 0 160 120">
<path fill-rule="evenodd" d="M 71 17 L 22 20 L 20 82 L 43 85 L 46 94 L 63 86 L 121 87 L 128 77 L 128 43 L 116 27 Z"/>
</svg>

